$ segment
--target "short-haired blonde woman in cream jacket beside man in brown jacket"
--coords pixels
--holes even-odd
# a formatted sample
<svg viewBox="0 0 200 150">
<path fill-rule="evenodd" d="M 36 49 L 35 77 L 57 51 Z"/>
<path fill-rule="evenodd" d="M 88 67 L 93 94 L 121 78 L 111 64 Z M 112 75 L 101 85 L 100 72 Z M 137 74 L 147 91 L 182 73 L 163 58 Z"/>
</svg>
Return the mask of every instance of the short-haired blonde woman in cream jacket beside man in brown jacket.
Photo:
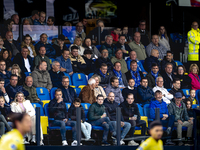
<svg viewBox="0 0 200 150">
<path fill-rule="evenodd" d="M 91 78 L 96 80 L 96 86 L 94 88 L 94 96 L 97 97 L 98 95 L 103 95 L 103 99 L 106 99 L 107 96 L 106 96 L 104 89 L 101 86 L 99 86 L 99 82 L 101 82 L 100 76 L 95 74 Z"/>
</svg>

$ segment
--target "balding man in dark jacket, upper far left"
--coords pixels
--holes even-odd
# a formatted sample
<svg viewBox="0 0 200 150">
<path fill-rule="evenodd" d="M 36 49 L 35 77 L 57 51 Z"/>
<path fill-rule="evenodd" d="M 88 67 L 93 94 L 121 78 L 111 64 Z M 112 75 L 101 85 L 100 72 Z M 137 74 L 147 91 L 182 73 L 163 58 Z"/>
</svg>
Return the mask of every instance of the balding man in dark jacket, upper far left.
<svg viewBox="0 0 200 150">
<path fill-rule="evenodd" d="M 13 33 L 11 31 L 6 32 L 6 40 L 4 41 L 4 47 L 11 51 L 14 57 L 17 53 L 21 52 L 19 43 L 13 39 Z"/>
</svg>

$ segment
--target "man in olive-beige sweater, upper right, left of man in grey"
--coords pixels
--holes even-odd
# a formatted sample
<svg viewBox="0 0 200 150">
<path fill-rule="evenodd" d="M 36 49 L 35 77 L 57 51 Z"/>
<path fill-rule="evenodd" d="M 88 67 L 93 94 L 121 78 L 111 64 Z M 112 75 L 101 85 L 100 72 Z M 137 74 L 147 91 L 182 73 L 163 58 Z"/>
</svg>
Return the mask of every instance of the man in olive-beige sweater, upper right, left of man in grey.
<svg viewBox="0 0 200 150">
<path fill-rule="evenodd" d="M 130 42 L 128 45 L 130 46 L 132 51 L 135 51 L 138 60 L 145 60 L 147 58 L 146 51 L 144 45 L 141 43 L 141 34 L 140 32 L 134 33 L 134 41 Z"/>
</svg>

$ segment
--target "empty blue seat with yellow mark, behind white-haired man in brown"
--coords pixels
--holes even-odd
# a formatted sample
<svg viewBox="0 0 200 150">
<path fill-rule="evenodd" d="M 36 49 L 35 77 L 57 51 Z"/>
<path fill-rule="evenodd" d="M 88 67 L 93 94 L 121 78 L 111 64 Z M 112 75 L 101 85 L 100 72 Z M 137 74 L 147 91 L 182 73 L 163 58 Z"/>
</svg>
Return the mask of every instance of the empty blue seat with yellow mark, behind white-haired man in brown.
<svg viewBox="0 0 200 150">
<path fill-rule="evenodd" d="M 87 85 L 87 79 L 83 73 L 74 73 L 72 75 L 72 83 L 74 86 L 78 87 L 80 85 Z"/>
</svg>

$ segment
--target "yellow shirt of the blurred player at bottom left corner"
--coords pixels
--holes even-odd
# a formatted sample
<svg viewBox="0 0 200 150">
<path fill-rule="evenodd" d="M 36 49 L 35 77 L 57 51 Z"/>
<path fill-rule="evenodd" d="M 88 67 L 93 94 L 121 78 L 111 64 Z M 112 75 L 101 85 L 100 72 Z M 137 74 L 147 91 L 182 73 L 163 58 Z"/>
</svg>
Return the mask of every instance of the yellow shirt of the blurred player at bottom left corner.
<svg viewBox="0 0 200 150">
<path fill-rule="evenodd" d="M 25 150 L 22 134 L 17 129 L 13 129 L 12 131 L 4 134 L 0 140 L 0 149 Z"/>
</svg>

